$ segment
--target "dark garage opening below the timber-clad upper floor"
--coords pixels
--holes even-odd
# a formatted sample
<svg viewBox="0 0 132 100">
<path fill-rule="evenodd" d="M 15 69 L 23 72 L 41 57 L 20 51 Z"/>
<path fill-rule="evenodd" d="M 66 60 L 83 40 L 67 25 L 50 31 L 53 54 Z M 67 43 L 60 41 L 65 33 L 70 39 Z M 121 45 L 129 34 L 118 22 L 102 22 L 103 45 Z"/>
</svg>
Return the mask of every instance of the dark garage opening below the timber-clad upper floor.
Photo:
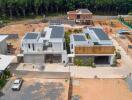
<svg viewBox="0 0 132 100">
<path fill-rule="evenodd" d="M 96 56 L 94 58 L 95 64 L 109 64 L 109 56 Z"/>
</svg>

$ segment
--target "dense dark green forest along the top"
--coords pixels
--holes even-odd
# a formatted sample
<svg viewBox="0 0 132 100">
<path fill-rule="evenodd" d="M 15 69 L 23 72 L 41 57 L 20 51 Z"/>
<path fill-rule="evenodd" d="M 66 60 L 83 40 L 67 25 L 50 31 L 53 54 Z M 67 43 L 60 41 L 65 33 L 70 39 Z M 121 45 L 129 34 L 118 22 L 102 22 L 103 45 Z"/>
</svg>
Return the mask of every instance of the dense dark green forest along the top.
<svg viewBox="0 0 132 100">
<path fill-rule="evenodd" d="M 76 8 L 88 8 L 95 14 L 127 14 L 132 10 L 132 0 L 0 0 L 0 17 L 65 13 Z"/>
</svg>

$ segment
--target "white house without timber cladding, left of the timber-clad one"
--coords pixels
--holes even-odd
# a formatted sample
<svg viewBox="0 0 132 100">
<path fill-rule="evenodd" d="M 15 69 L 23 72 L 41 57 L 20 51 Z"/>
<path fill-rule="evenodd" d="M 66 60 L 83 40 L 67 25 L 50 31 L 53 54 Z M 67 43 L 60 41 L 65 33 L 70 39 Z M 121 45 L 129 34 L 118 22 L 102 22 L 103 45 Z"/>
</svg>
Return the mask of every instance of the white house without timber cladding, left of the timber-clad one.
<svg viewBox="0 0 132 100">
<path fill-rule="evenodd" d="M 42 32 L 26 33 L 21 49 L 25 63 L 67 63 L 64 27 L 49 26 Z"/>
</svg>

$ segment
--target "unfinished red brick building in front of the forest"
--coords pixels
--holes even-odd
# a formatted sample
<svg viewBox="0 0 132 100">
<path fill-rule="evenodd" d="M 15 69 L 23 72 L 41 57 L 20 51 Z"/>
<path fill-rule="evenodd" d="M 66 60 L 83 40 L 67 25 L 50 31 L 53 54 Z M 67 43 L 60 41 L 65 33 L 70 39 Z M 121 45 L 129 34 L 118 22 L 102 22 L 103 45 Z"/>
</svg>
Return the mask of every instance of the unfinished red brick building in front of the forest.
<svg viewBox="0 0 132 100">
<path fill-rule="evenodd" d="M 88 9 L 77 9 L 67 12 L 68 20 L 74 20 L 80 24 L 92 24 L 92 12 Z"/>
</svg>

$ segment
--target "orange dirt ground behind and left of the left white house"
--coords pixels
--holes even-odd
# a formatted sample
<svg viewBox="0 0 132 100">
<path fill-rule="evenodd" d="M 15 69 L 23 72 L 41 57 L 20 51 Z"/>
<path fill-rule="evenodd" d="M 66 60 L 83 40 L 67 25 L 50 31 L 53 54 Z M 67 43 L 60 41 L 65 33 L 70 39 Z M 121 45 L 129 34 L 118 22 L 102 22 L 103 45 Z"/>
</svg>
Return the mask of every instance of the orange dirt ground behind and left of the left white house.
<svg viewBox="0 0 132 100">
<path fill-rule="evenodd" d="M 20 43 L 22 37 L 27 32 L 41 32 L 42 29 L 44 29 L 45 26 L 47 26 L 48 23 L 38 23 L 38 24 L 25 24 L 24 22 L 21 24 L 14 24 L 14 25 L 8 25 L 5 27 L 0 28 L 1 34 L 13 34 L 17 33 L 19 36 L 19 40 L 8 40 L 7 43 L 11 43 L 13 45 L 13 48 L 15 49 L 15 54 L 20 52 Z"/>
</svg>

